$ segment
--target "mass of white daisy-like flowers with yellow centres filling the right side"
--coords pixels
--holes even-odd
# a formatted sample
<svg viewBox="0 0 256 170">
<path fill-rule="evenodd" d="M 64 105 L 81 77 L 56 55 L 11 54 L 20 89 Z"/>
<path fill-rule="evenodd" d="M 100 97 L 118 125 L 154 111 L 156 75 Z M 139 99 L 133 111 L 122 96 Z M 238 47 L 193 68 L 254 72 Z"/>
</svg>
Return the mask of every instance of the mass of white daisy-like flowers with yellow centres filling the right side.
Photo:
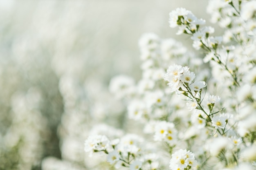
<svg viewBox="0 0 256 170">
<path fill-rule="evenodd" d="M 143 130 L 93 134 L 85 152 L 113 169 L 256 169 L 256 1 L 210 0 L 207 11 L 223 35 L 184 8 L 169 18 L 203 55 L 142 35 L 142 78 L 118 75 L 109 89 Z"/>
</svg>

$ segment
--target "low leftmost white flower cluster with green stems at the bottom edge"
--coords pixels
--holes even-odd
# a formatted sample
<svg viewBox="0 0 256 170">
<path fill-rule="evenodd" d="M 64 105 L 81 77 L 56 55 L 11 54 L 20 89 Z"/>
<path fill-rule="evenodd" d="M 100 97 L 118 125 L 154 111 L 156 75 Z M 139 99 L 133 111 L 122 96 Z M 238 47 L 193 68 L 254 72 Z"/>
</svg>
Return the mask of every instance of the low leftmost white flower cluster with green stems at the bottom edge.
<svg viewBox="0 0 256 170">
<path fill-rule="evenodd" d="M 159 166 L 155 155 L 141 155 L 141 151 L 149 152 L 142 144 L 144 139 L 135 134 L 126 134 L 120 139 L 109 140 L 105 135 L 90 136 L 85 141 L 85 152 L 104 152 L 106 161 L 115 168 L 130 167 L 131 170 L 140 170 L 146 167 Z M 151 148 L 152 149 L 152 148 Z M 147 151 L 148 150 L 148 151 Z"/>
</svg>

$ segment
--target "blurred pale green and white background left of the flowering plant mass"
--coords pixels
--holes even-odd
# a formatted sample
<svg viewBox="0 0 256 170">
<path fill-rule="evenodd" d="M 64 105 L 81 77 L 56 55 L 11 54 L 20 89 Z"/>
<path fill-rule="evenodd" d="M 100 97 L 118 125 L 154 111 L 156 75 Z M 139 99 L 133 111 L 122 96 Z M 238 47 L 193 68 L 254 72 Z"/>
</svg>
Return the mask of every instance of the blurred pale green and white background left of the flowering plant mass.
<svg viewBox="0 0 256 170">
<path fill-rule="evenodd" d="M 205 0 L 0 0 L 0 170 L 99 168 L 83 143 L 98 123 L 126 131 L 108 84 L 141 77 L 140 36 L 192 49 L 168 26 L 177 7 L 209 18 Z"/>
</svg>

